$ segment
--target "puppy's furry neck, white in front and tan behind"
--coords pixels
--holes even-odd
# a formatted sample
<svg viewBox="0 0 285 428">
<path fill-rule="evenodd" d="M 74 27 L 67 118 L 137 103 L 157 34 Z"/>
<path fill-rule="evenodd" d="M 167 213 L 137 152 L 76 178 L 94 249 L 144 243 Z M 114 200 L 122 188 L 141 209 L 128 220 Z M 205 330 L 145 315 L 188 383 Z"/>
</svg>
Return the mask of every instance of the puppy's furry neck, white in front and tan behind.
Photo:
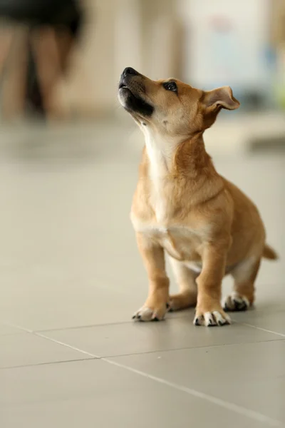
<svg viewBox="0 0 285 428">
<path fill-rule="evenodd" d="M 205 151 L 202 133 L 167 138 L 145 132 L 145 152 L 141 173 L 147 177 L 150 204 L 161 224 L 167 223 L 181 204 L 201 203 L 212 198 L 222 186 L 222 179 Z M 183 195 L 187 195 L 186 201 Z"/>
</svg>

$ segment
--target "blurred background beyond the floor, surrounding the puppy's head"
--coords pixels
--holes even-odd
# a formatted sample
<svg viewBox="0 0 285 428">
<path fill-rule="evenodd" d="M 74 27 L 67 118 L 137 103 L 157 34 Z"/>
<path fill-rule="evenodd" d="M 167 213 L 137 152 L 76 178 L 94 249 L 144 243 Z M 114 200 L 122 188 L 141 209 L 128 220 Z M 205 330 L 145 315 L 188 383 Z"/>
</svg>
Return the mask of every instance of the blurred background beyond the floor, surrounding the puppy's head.
<svg viewBox="0 0 285 428">
<path fill-rule="evenodd" d="M 232 86 L 242 108 L 223 113 L 209 131 L 213 150 L 243 151 L 269 141 L 283 147 L 284 4 L 1 0 L 1 120 L 133 126 L 116 98 L 129 65 L 154 79 Z"/>
</svg>

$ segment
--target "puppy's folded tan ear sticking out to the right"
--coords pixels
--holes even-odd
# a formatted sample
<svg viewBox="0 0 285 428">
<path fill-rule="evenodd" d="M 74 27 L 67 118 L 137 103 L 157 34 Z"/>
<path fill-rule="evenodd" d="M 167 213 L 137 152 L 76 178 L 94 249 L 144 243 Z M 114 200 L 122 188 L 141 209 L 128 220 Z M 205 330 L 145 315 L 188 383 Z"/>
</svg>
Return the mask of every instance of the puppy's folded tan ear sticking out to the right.
<svg viewBox="0 0 285 428">
<path fill-rule="evenodd" d="M 204 92 L 203 101 L 208 112 L 219 110 L 220 108 L 235 110 L 240 105 L 239 101 L 232 95 L 232 88 L 229 86 L 222 86 L 222 88 Z"/>
</svg>

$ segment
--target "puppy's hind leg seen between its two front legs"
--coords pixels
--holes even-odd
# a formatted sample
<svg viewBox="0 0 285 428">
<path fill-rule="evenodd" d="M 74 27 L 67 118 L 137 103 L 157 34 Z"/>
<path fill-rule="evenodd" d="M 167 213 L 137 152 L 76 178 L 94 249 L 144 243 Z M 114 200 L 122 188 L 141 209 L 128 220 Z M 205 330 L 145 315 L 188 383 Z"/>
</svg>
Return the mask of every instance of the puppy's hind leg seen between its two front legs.
<svg viewBox="0 0 285 428">
<path fill-rule="evenodd" d="M 170 258 L 172 270 L 175 274 L 180 292 L 170 296 L 169 309 L 181 310 L 186 307 L 196 306 L 197 303 L 197 272 L 190 270 L 179 260 Z"/>
</svg>

